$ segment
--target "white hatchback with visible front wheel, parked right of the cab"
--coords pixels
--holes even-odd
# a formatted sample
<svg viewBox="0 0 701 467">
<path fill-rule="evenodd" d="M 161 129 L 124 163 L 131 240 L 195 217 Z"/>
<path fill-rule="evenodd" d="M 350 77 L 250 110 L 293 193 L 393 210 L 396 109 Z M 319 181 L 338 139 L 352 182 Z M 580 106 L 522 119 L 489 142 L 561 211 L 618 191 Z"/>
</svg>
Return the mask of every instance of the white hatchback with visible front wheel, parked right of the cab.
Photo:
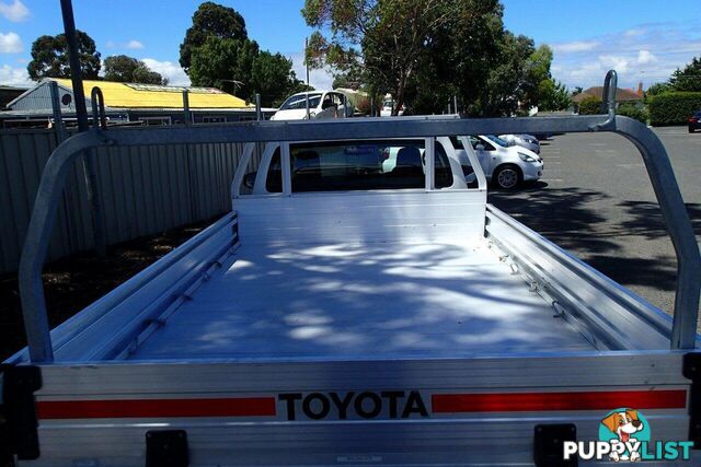
<svg viewBox="0 0 701 467">
<path fill-rule="evenodd" d="M 506 141 L 495 136 L 468 137 L 468 139 L 486 179 L 502 189 L 518 188 L 524 182 L 540 179 L 543 174 L 543 161 L 533 151 L 518 145 L 508 145 Z M 470 162 L 462 141 L 459 138 L 452 138 L 452 144 L 466 172 L 467 182 L 473 182 L 474 174 L 467 168 L 470 167 Z"/>
</svg>

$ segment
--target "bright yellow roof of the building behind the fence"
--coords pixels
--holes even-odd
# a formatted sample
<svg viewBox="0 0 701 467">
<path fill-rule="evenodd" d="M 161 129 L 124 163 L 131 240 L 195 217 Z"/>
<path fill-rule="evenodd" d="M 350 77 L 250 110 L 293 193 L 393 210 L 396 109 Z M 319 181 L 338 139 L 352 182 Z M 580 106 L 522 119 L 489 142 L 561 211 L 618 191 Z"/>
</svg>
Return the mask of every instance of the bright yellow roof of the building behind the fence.
<svg viewBox="0 0 701 467">
<path fill-rule="evenodd" d="M 53 79 L 72 90 L 68 79 Z M 90 97 L 94 86 L 102 90 L 105 106 L 117 108 L 183 108 L 183 91 L 188 92 L 189 108 L 251 108 L 242 98 L 215 87 L 163 86 L 156 84 L 117 83 L 83 80 L 83 92 Z"/>
</svg>

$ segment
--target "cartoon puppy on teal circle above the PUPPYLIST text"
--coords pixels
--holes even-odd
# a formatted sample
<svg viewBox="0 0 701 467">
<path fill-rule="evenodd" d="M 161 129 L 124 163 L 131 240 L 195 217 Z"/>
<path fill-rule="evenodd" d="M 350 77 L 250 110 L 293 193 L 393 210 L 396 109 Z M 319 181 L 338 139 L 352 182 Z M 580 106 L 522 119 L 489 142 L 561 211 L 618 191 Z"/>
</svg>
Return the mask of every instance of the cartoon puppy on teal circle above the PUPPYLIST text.
<svg viewBox="0 0 701 467">
<path fill-rule="evenodd" d="M 641 442 L 650 441 L 650 425 L 637 410 L 616 409 L 601 420 L 599 440 L 611 443 L 611 460 L 637 462 L 641 459 Z"/>
</svg>

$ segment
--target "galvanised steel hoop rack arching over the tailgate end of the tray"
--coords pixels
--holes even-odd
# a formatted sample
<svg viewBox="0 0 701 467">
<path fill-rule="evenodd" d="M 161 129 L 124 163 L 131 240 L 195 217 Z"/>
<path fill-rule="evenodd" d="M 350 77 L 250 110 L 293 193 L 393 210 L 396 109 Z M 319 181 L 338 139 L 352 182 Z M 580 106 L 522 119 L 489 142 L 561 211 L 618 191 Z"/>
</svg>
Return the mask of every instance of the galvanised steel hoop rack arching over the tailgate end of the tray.
<svg viewBox="0 0 701 467">
<path fill-rule="evenodd" d="M 616 115 L 616 90 L 617 75 L 611 70 L 606 75 L 602 107 L 608 115 L 604 121 L 600 115 L 484 119 L 416 116 L 108 130 L 96 125 L 56 148 L 42 175 L 20 261 L 20 295 L 30 358 L 37 363 L 54 361 L 42 269 L 70 164 L 85 150 L 111 145 L 347 140 L 348 136 L 353 139 L 378 139 L 589 131 L 621 135 L 637 148 L 643 157 L 677 256 L 670 347 L 693 349 L 701 289 L 699 246 L 664 145 L 645 125 Z"/>
</svg>

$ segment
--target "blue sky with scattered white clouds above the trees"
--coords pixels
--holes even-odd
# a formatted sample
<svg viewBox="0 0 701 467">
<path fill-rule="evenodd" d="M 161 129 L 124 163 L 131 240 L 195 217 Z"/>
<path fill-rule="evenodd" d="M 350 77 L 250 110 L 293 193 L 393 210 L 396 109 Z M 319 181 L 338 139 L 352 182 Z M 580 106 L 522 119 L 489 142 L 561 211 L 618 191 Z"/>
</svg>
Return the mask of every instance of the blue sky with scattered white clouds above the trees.
<svg viewBox="0 0 701 467">
<path fill-rule="evenodd" d="M 665 80 L 701 56 L 700 0 L 503 0 L 504 22 L 516 34 L 554 50 L 553 75 L 570 87 L 600 84 L 616 68 L 622 85 Z M 303 0 L 220 0 L 246 21 L 262 48 L 301 63 L 311 33 L 299 10 Z M 186 84 L 177 65 L 179 45 L 199 1 L 73 0 L 76 23 L 96 42 L 103 58 L 127 54 L 145 60 L 173 84 Z M 62 32 L 59 0 L 0 0 L 0 83 L 27 84 L 32 42 Z M 327 87 L 331 77 L 313 71 L 311 83 Z"/>
</svg>

